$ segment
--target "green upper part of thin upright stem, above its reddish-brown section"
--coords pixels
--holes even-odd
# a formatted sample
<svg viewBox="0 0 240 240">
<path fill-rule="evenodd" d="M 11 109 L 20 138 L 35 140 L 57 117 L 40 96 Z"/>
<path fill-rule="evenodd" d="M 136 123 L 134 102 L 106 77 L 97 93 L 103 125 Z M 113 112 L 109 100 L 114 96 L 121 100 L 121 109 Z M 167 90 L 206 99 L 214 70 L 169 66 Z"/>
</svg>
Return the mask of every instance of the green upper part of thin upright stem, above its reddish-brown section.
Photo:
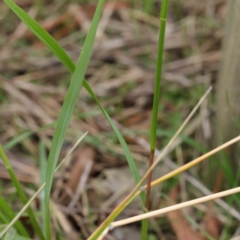
<svg viewBox="0 0 240 240">
<path fill-rule="evenodd" d="M 151 123 L 151 135 L 150 135 L 150 147 L 154 151 L 156 148 L 156 131 L 157 131 L 157 119 L 158 119 L 158 103 L 160 96 L 160 84 L 162 75 L 162 59 L 163 59 L 163 48 L 165 38 L 165 27 L 166 17 L 168 9 L 168 0 L 162 1 L 162 8 L 160 14 L 160 31 L 158 39 L 158 58 L 156 66 L 156 76 L 154 85 L 154 98 L 153 98 L 153 111 L 152 111 L 152 123 Z"/>
</svg>

